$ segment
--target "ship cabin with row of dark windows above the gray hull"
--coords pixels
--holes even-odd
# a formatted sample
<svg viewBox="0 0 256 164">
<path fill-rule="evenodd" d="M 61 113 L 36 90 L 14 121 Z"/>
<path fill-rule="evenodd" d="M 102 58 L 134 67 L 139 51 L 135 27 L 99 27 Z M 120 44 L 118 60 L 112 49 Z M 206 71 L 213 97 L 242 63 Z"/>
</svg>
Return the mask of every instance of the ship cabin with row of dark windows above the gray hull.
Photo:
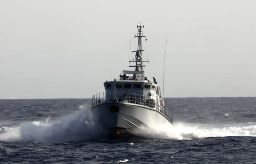
<svg viewBox="0 0 256 164">
<path fill-rule="evenodd" d="M 144 71 L 123 71 L 119 80 L 106 81 L 105 101 L 131 102 L 155 108 L 163 103 L 160 87 L 144 79 Z"/>
</svg>

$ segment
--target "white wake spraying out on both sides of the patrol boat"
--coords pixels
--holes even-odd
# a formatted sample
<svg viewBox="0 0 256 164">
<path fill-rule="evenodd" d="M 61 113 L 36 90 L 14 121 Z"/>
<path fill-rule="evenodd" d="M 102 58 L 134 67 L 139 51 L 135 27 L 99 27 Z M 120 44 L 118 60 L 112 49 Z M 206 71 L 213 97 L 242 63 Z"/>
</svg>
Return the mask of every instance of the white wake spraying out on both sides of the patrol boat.
<svg viewBox="0 0 256 164">
<path fill-rule="evenodd" d="M 106 131 L 95 128 L 92 123 L 92 112 L 86 105 L 67 116 L 22 123 L 16 127 L 0 128 L 0 141 L 35 141 L 61 142 L 104 139 Z M 175 126 L 156 125 L 148 130 L 141 127 L 133 132 L 140 137 L 190 140 L 204 137 L 256 136 L 256 123 L 234 124 L 232 126 L 214 127 L 205 124 L 175 123 Z"/>
</svg>

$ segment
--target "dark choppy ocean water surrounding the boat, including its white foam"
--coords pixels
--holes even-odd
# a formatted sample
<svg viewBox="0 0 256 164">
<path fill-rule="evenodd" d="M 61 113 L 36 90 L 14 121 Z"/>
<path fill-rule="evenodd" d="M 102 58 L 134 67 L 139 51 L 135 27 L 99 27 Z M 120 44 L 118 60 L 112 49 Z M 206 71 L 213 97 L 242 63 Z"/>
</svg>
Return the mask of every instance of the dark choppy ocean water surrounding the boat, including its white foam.
<svg viewBox="0 0 256 164">
<path fill-rule="evenodd" d="M 0 100 L 0 163 L 256 163 L 256 97 L 166 98 L 174 126 L 109 139 L 90 99 Z"/>
</svg>

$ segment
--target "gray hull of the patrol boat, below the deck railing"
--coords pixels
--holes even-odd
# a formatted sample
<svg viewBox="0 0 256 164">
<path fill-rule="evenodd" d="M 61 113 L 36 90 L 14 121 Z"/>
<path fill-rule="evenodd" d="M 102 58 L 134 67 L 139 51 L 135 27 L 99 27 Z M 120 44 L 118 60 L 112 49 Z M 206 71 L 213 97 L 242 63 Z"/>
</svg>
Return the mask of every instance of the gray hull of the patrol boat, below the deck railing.
<svg viewBox="0 0 256 164">
<path fill-rule="evenodd" d="M 139 130 L 141 127 L 171 125 L 160 111 L 127 102 L 106 102 L 92 106 L 94 124 L 106 129 Z"/>
</svg>

